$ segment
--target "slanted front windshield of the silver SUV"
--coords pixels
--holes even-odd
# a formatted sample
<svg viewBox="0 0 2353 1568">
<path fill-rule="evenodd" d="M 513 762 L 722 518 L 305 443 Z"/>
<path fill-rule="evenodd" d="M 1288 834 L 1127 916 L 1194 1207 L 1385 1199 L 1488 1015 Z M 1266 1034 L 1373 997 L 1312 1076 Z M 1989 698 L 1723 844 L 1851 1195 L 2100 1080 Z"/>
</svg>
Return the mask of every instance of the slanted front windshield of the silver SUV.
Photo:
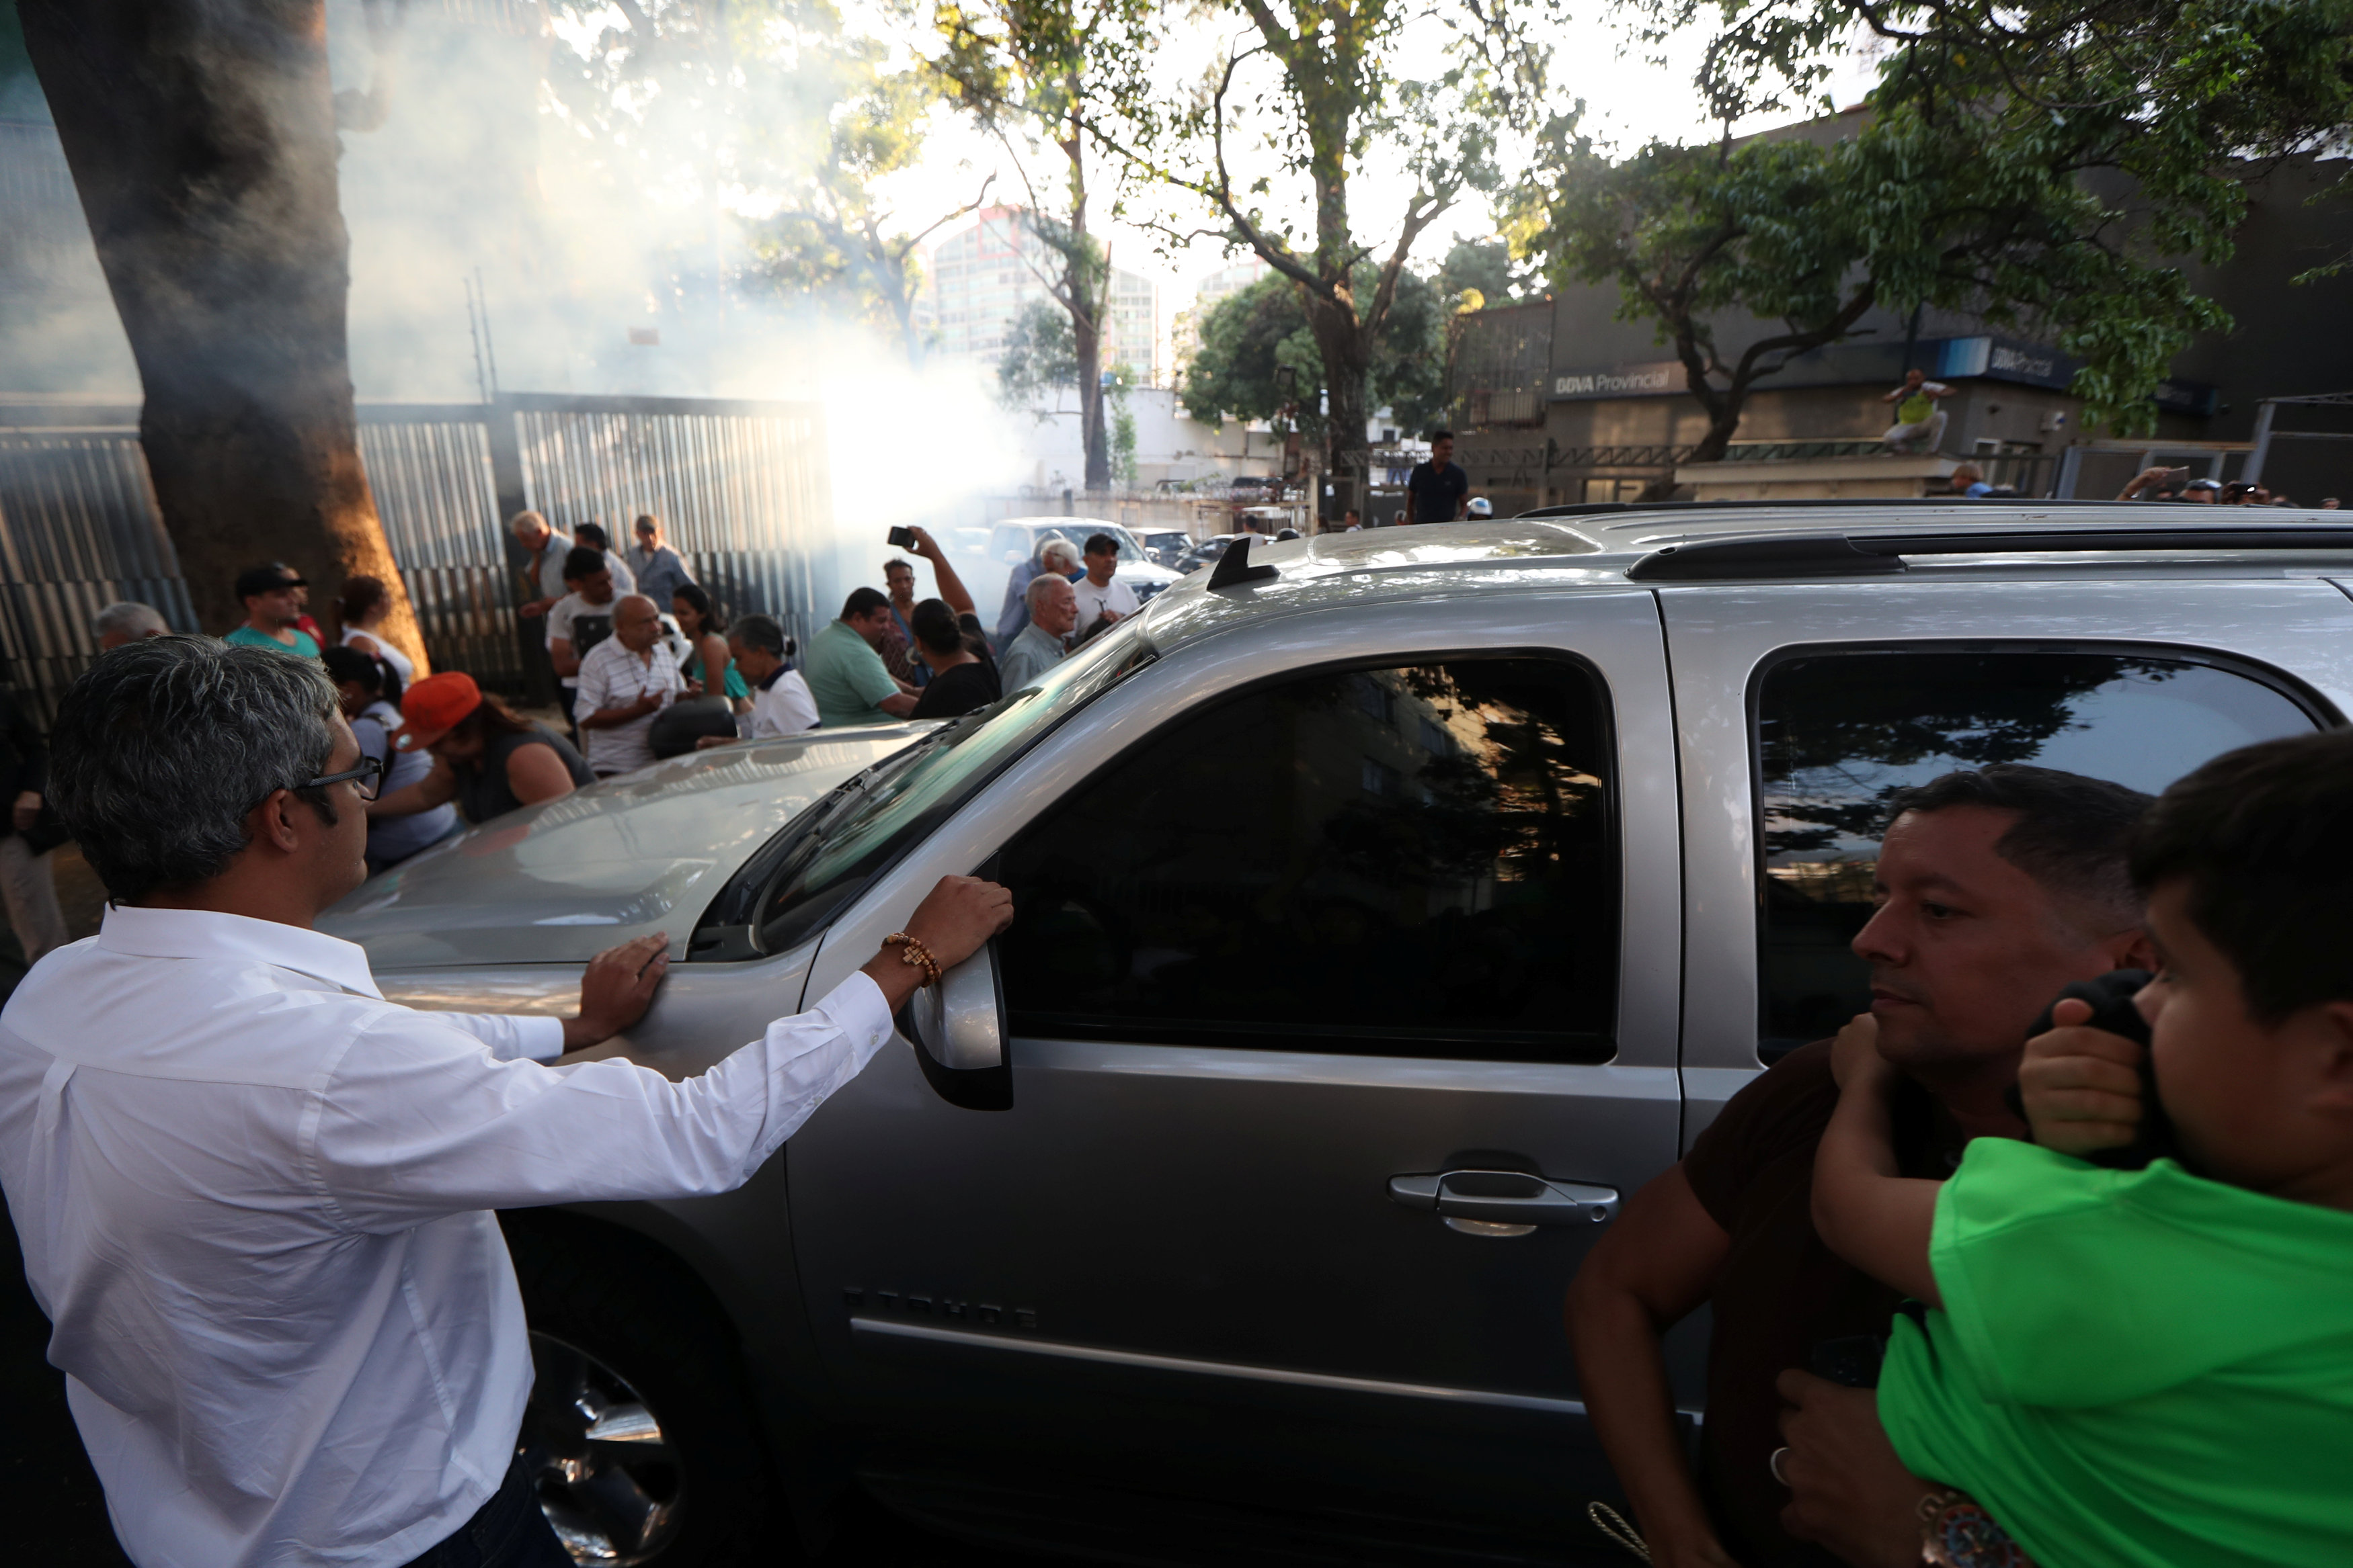
<svg viewBox="0 0 2353 1568">
<path fill-rule="evenodd" d="M 1035 686 L 934 729 L 786 823 L 711 900 L 687 957 L 753 959 L 819 931 L 1049 729 L 1153 661 L 1136 623 L 1038 677 Z"/>
</svg>

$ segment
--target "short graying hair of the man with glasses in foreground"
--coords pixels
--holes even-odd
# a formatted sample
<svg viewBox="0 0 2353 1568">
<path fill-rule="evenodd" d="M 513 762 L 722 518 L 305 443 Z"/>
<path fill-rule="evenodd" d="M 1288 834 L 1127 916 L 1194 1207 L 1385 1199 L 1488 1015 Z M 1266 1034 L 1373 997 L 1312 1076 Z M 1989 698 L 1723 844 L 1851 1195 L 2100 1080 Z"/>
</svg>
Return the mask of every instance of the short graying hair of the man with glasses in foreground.
<svg viewBox="0 0 2353 1568">
<path fill-rule="evenodd" d="M 212 882 L 245 818 L 334 750 L 334 686 L 311 658 L 212 637 L 99 654 L 56 705 L 49 799 L 115 903 Z M 329 823 L 325 790 L 304 792 Z"/>
</svg>

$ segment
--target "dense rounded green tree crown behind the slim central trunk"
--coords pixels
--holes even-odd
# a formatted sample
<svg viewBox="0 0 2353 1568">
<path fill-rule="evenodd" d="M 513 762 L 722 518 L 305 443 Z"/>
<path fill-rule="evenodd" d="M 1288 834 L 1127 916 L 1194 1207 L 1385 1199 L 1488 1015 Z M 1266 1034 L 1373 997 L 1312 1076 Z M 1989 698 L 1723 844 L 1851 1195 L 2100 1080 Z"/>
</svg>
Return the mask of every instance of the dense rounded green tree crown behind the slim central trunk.
<svg viewBox="0 0 2353 1568">
<path fill-rule="evenodd" d="M 1374 268 L 1365 263 L 1360 270 L 1369 275 Z M 1438 284 L 1419 273 L 1402 273 L 1388 329 L 1367 374 L 1367 407 L 1395 409 L 1400 428 L 1428 425 L 1445 407 L 1445 320 L 1447 301 Z M 1209 423 L 1273 421 L 1287 402 L 1275 376 L 1282 367 L 1292 371 L 1289 397 L 1297 400 L 1289 423 L 1322 440 L 1327 421 L 1318 414 L 1318 402 L 1329 383 L 1299 287 L 1287 277 L 1261 277 L 1217 301 L 1202 317 L 1200 353 L 1184 383 L 1186 414 Z"/>
</svg>

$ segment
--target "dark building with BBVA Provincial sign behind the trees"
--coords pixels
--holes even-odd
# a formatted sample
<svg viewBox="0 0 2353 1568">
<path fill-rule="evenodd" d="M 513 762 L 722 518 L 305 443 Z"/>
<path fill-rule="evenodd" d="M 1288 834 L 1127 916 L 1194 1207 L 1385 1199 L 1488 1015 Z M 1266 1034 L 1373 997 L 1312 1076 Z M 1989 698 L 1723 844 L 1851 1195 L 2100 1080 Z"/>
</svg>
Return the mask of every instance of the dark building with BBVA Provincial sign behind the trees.
<svg viewBox="0 0 2353 1568">
<path fill-rule="evenodd" d="M 1758 383 L 1722 463 L 1689 463 L 1708 416 L 1647 322 L 1619 320 L 1612 284 L 1459 317 L 1449 353 L 1457 461 L 1511 515 L 1633 501 L 1673 477 L 1697 501 L 1920 496 L 1960 463 L 2021 496 L 2113 496 L 2151 458 L 2219 480 L 2245 473 L 2261 400 L 2353 388 L 2353 280 L 2292 282 L 2353 249 L 2353 209 L 2311 197 L 2344 162 L 2301 162 L 2257 188 L 2233 259 L 2188 268 L 2233 317 L 2202 334 L 2158 393 L 2151 437 L 2082 425 L 2078 362 L 2031 329 L 1939 310 L 1873 310 L 1845 343 Z M 1722 355 L 1781 331 L 1720 317 Z M 1885 395 L 1920 369 L 1953 388 L 1934 451 L 1889 454 Z M 2353 430 L 2346 409 L 2280 409 L 2280 425 Z M 2332 423 L 2334 421 L 2334 423 Z M 2264 482 L 2297 501 L 2353 491 L 2353 442 L 2275 440 Z"/>
</svg>

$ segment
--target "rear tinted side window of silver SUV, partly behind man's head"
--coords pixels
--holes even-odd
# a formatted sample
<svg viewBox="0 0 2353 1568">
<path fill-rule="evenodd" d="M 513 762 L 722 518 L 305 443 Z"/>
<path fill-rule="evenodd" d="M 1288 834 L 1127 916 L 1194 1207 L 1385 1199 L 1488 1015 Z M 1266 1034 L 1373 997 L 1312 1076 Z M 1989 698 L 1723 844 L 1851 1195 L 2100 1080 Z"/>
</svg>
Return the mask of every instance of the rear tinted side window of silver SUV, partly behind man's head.
<svg viewBox="0 0 2353 1568">
<path fill-rule="evenodd" d="M 1894 790 L 2028 762 L 2155 795 L 2209 757 L 2308 729 L 2273 686 L 2181 658 L 1922 651 L 1774 665 L 1758 691 L 1762 1056 L 1871 1006 L 1871 971 L 1847 943 L 1871 919 Z"/>
</svg>

